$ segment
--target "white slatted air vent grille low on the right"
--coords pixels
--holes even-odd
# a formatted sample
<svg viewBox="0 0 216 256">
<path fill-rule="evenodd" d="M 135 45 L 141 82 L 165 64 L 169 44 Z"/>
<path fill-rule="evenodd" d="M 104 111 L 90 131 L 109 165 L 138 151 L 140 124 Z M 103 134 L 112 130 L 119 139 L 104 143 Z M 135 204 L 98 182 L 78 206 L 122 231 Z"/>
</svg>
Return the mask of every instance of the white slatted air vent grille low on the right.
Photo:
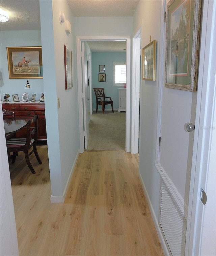
<svg viewBox="0 0 216 256">
<path fill-rule="evenodd" d="M 160 225 L 174 256 L 185 255 L 186 220 L 162 183 Z"/>
</svg>

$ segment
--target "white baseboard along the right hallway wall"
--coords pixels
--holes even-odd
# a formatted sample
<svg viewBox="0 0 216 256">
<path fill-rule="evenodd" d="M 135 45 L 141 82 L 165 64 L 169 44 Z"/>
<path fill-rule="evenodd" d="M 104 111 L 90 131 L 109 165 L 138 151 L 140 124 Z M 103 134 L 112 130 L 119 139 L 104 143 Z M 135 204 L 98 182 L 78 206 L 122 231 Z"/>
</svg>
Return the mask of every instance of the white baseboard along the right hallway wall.
<svg viewBox="0 0 216 256">
<path fill-rule="evenodd" d="M 141 185 L 142 185 L 142 188 L 143 188 L 143 191 L 145 193 L 145 197 L 147 199 L 147 202 L 148 202 L 148 207 L 150 208 L 150 212 L 151 212 L 151 215 L 152 215 L 152 218 L 153 218 L 153 221 L 155 223 L 155 228 L 156 228 L 156 231 L 158 233 L 158 237 L 159 237 L 159 240 L 160 240 L 160 243 L 161 243 L 161 246 L 162 246 L 162 249 L 163 249 L 163 253 L 164 255 L 170 255 L 169 251 L 167 250 L 167 245 L 166 245 L 166 242 L 164 240 L 164 237 L 163 237 L 163 234 L 161 232 L 161 229 L 159 227 L 159 224 L 158 224 L 158 218 L 156 217 L 155 215 L 155 211 L 153 209 L 153 206 L 152 206 L 152 202 L 150 200 L 150 197 L 148 196 L 148 192 L 145 188 L 145 184 L 143 182 L 143 179 L 142 179 L 142 176 L 140 175 L 139 173 L 139 178 L 140 178 L 140 181 L 141 181 Z"/>
</svg>

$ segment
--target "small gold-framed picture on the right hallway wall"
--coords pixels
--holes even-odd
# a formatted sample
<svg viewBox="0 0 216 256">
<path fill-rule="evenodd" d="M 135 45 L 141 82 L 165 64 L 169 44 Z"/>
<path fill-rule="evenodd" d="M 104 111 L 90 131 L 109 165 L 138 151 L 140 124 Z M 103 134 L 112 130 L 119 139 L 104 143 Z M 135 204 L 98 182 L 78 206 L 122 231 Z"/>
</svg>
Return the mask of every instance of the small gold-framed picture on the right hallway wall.
<svg viewBox="0 0 216 256">
<path fill-rule="evenodd" d="M 142 48 L 142 79 L 156 81 L 156 40 Z"/>
</svg>

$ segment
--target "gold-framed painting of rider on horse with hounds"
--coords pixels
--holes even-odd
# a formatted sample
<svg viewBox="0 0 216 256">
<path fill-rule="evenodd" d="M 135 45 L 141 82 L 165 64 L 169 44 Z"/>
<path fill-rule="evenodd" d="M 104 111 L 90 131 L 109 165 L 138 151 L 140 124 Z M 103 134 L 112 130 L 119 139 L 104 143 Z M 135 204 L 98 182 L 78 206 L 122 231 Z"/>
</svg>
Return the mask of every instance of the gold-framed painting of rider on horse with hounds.
<svg viewBox="0 0 216 256">
<path fill-rule="evenodd" d="M 42 48 L 7 47 L 9 78 L 43 78 Z"/>
</svg>

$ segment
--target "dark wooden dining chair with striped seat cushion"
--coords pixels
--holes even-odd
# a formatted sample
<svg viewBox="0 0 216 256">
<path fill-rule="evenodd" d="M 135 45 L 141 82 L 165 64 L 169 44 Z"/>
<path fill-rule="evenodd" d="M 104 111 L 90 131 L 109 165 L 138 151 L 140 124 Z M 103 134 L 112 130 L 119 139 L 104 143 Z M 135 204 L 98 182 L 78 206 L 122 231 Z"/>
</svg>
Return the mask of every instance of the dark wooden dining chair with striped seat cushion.
<svg viewBox="0 0 216 256">
<path fill-rule="evenodd" d="M 31 124 L 33 123 L 34 127 L 31 127 Z M 38 115 L 35 115 L 31 120 L 29 120 L 26 127 L 26 138 L 11 138 L 10 140 L 6 141 L 8 161 L 10 161 L 10 152 L 23 151 L 25 154 L 26 163 L 31 172 L 34 174 L 35 171 L 31 165 L 29 156 L 34 152 L 38 163 L 42 164 L 41 158 L 37 152 Z M 30 148 L 32 148 L 32 150 L 29 153 Z"/>
</svg>

